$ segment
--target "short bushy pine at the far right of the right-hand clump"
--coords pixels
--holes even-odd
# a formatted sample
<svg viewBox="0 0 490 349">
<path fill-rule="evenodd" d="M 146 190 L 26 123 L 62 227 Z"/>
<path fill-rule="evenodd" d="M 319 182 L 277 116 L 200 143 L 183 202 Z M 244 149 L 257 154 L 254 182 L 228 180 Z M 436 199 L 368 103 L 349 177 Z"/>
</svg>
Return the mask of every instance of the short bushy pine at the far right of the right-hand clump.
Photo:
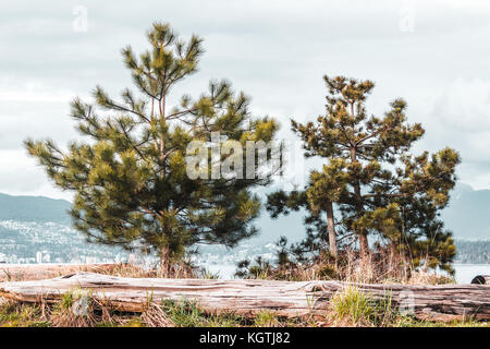
<svg viewBox="0 0 490 349">
<path fill-rule="evenodd" d="M 428 152 L 415 157 L 407 154 L 401 163 L 372 196 L 372 210 L 364 224 L 388 239 L 406 270 L 438 266 L 452 272 L 456 250 L 440 215 L 456 183 L 460 156 L 444 148 L 432 156 Z"/>
</svg>

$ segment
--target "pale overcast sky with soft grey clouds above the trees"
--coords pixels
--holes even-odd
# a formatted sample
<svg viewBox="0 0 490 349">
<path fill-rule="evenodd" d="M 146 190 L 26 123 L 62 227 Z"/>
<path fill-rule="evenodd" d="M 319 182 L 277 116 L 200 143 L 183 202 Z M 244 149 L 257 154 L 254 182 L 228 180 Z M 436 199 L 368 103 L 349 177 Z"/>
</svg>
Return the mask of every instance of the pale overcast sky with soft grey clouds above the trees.
<svg viewBox="0 0 490 349">
<path fill-rule="evenodd" d="M 86 24 L 84 19 L 86 13 Z M 0 3 L 0 192 L 70 197 L 22 142 L 79 137 L 74 96 L 131 85 L 120 49 L 146 48 L 155 21 L 205 38 L 200 72 L 175 94 L 225 77 L 282 123 L 323 111 L 322 75 L 369 79 L 371 113 L 403 97 L 422 122 L 417 151 L 460 151 L 462 182 L 490 189 L 490 1 L 23 1 Z"/>
</svg>

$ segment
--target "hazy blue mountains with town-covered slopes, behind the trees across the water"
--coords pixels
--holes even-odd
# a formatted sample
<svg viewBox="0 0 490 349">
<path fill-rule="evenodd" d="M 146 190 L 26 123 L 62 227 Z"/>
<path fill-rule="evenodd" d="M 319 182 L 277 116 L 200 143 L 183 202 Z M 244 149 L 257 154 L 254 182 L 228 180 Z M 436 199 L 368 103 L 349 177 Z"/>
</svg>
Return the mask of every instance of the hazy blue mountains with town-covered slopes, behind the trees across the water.
<svg viewBox="0 0 490 349">
<path fill-rule="evenodd" d="M 87 243 L 84 236 L 70 225 L 70 206 L 71 203 L 65 200 L 0 194 L 0 262 L 2 258 L 7 258 L 9 263 L 33 263 L 39 262 L 39 258 L 40 262 L 60 263 L 89 260 L 110 262 L 127 257 L 120 249 Z M 442 214 L 446 228 L 453 231 L 458 241 L 490 242 L 489 216 L 490 190 L 474 190 L 464 183 L 456 185 L 450 204 Z M 246 257 L 270 254 L 274 251 L 273 243 L 281 236 L 290 241 L 297 241 L 305 233 L 302 212 L 278 219 L 271 219 L 262 212 L 255 225 L 260 233 L 233 251 L 222 246 L 203 246 L 201 254 L 207 260 L 217 257 L 217 263 L 230 258 L 234 261 L 238 255 Z M 469 251 L 466 254 L 474 255 L 471 249 L 465 249 Z M 487 249 L 488 243 L 485 251 Z M 232 263 L 231 260 L 226 264 L 236 262 Z"/>
</svg>

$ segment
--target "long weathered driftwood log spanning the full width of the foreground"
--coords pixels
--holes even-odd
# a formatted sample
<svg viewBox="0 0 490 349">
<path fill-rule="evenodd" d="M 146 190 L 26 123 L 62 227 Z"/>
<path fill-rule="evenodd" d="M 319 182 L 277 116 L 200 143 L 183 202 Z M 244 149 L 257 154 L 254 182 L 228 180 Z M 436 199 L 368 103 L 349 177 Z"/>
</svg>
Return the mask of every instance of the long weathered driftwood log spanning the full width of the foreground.
<svg viewBox="0 0 490 349">
<path fill-rule="evenodd" d="M 293 317 L 321 314 L 330 298 L 353 287 L 339 281 L 207 280 L 124 278 L 77 273 L 37 281 L 0 284 L 0 296 L 24 302 L 60 300 L 63 293 L 85 290 L 102 304 L 142 312 L 148 302 L 193 301 L 206 312 L 235 312 L 244 316 L 268 310 Z M 490 320 L 488 285 L 355 285 L 372 299 L 390 298 L 393 306 L 418 318 L 448 321 L 473 316 Z"/>
</svg>

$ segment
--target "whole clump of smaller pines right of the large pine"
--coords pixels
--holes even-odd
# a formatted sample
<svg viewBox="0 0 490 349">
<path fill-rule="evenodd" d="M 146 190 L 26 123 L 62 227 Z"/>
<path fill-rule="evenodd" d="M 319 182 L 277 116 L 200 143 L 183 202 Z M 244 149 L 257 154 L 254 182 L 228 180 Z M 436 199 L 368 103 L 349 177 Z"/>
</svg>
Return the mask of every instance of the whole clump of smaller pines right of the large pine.
<svg viewBox="0 0 490 349">
<path fill-rule="evenodd" d="M 335 255 L 339 236 L 354 233 L 366 257 L 372 234 L 407 269 L 425 265 L 450 270 L 455 249 L 440 212 L 456 181 L 457 153 L 444 148 L 414 157 L 411 147 L 425 130 L 406 122 L 405 101 L 394 100 L 383 117 L 368 117 L 365 100 L 373 83 L 342 76 L 324 80 L 326 115 L 316 123 L 292 120 L 292 127 L 304 142 L 306 156 L 322 157 L 326 164 L 321 171 L 311 171 L 303 191 L 268 196 L 272 217 L 307 212 L 307 236 L 291 251 L 301 254 L 329 245 Z"/>
</svg>

